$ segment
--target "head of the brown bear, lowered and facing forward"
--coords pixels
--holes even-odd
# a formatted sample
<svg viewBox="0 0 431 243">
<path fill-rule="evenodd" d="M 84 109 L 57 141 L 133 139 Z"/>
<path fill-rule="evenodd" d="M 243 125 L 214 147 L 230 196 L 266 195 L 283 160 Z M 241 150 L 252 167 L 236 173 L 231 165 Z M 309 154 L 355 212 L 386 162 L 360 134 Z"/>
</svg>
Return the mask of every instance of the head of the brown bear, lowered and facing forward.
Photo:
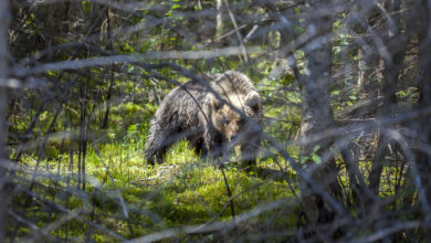
<svg viewBox="0 0 431 243">
<path fill-rule="evenodd" d="M 241 144 L 246 141 L 257 131 L 256 124 L 261 124 L 262 105 L 259 94 L 256 92 L 246 95 L 231 94 L 223 96 L 223 98 L 254 123 L 248 123 L 235 109 L 213 97 L 211 120 L 214 128 L 230 142 Z"/>
</svg>

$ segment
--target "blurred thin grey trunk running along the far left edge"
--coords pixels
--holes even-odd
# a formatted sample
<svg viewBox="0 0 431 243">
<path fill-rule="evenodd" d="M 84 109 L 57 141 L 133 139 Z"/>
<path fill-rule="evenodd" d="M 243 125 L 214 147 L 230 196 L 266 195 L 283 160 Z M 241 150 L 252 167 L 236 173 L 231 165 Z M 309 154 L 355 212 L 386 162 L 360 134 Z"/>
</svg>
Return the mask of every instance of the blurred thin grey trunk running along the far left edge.
<svg viewBox="0 0 431 243">
<path fill-rule="evenodd" d="M 4 150 L 7 142 L 7 109 L 8 109 L 8 25 L 10 20 L 9 1 L 0 1 L 0 242 L 6 241 L 7 214 L 10 196 L 7 192 L 9 177 L 6 171 L 8 155 Z"/>
</svg>

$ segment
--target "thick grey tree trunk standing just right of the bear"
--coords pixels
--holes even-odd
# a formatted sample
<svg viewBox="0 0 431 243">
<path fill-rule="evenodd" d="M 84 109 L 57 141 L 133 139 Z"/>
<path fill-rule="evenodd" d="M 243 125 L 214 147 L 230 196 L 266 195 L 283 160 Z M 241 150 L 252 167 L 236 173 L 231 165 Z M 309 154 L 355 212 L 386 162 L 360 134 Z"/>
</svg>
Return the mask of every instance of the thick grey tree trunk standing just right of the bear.
<svg viewBox="0 0 431 243">
<path fill-rule="evenodd" d="M 315 6 L 318 8 L 317 6 Z M 322 160 L 324 152 L 329 151 L 332 138 L 311 140 L 314 135 L 322 134 L 334 126 L 333 110 L 330 108 L 330 67 L 332 67 L 332 24 L 333 21 L 323 17 L 311 21 L 308 31 L 325 30 L 322 42 L 314 51 L 306 54 L 308 74 L 302 86 L 303 104 L 301 135 L 304 144 L 301 147 L 301 157 L 307 158 L 304 170 L 309 177 L 330 196 L 339 199 L 340 187 L 337 182 L 337 169 L 333 156 Z M 334 220 L 335 211 L 327 202 L 317 196 L 309 184 L 299 180 L 303 207 L 311 225 L 328 223 Z"/>
</svg>

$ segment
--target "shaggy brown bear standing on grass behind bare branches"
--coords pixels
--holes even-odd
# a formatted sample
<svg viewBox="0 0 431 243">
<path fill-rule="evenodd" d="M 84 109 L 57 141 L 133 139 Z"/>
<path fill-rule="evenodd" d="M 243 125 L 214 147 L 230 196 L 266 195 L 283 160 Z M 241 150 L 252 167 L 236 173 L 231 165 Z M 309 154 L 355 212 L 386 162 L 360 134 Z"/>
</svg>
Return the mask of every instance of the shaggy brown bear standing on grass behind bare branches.
<svg viewBox="0 0 431 243">
<path fill-rule="evenodd" d="M 227 156 L 233 146 L 241 145 L 241 160 L 255 165 L 262 105 L 252 82 L 234 71 L 201 81 L 206 85 L 189 81 L 164 98 L 151 120 L 145 158 L 151 165 L 162 162 L 169 147 L 187 139 L 202 158 Z"/>
</svg>

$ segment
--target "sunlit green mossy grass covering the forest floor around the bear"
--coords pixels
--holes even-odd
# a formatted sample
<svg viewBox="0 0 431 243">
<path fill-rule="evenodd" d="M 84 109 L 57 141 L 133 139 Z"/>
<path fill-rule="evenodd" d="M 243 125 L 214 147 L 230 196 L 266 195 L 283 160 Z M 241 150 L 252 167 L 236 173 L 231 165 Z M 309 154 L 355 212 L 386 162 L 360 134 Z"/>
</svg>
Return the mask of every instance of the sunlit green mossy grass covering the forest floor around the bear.
<svg viewBox="0 0 431 243">
<path fill-rule="evenodd" d="M 201 160 L 186 141 L 169 149 L 162 165 L 148 165 L 143 154 L 146 130 L 147 127 L 130 125 L 123 135 L 111 131 L 103 142 L 90 144 L 85 157 L 85 191 L 82 179 L 78 183 L 78 156 L 72 159 L 50 148 L 54 158 L 39 161 L 32 186 L 34 197 L 18 192 L 13 197 L 14 209 L 39 229 L 52 226 L 48 235 L 55 239 L 67 235 L 80 242 L 112 242 L 115 235 L 133 239 L 169 228 L 229 221 L 232 220 L 231 207 L 239 215 L 277 200 L 286 204 L 248 220 L 241 228 L 257 237 L 259 229 L 266 222 L 274 232 L 288 234 L 303 221 L 296 201 L 297 176 L 276 151 L 259 158 L 259 170 L 253 172 L 244 171 L 235 162 L 224 165 L 224 180 L 222 170 L 211 161 Z M 285 149 L 297 159 L 296 145 L 285 145 Z M 25 154 L 19 163 L 17 183 L 25 190 L 30 188 L 36 163 L 36 152 Z M 366 170 L 369 162 L 362 167 Z M 397 171 L 393 168 L 387 167 L 382 173 L 386 184 L 381 187 L 381 197 L 395 197 L 396 178 L 391 175 Z M 347 178 L 343 169 L 339 181 L 346 189 Z M 67 211 L 75 214 L 62 221 Z M 12 223 L 9 234 L 17 229 L 18 240 L 25 240 L 34 234 L 34 225 Z M 49 240 L 48 235 L 40 235 L 41 241 Z M 217 237 L 214 234 L 183 236 L 183 241 Z"/>
</svg>

